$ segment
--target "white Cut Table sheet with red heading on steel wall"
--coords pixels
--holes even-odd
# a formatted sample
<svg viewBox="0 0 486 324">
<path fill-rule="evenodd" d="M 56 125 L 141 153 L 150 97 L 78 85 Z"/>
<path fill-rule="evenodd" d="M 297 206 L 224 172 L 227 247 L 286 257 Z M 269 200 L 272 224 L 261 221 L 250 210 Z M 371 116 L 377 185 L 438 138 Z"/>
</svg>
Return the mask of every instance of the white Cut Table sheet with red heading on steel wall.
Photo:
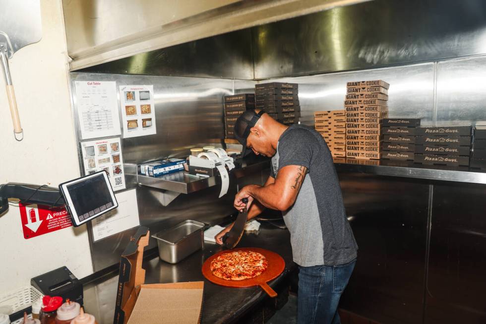
<svg viewBox="0 0 486 324">
<path fill-rule="evenodd" d="M 76 81 L 76 107 L 81 138 L 120 135 L 115 81 Z"/>
</svg>

